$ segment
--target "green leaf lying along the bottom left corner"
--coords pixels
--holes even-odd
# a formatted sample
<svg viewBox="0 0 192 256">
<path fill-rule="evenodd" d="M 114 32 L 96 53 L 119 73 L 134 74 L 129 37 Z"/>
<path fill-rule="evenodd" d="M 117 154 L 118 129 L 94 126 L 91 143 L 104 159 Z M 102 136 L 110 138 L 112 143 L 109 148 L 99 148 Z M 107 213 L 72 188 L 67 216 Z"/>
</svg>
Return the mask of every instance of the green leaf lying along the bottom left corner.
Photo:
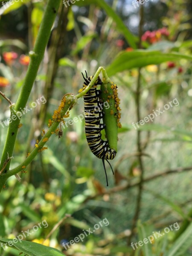
<svg viewBox="0 0 192 256">
<path fill-rule="evenodd" d="M 19 241 L 17 240 L 17 243 L 13 242 L 13 239 L 0 239 L 0 242 L 3 244 L 7 243 L 7 246 L 15 248 L 19 250 L 20 252 L 26 253 L 30 256 L 64 256 L 64 253 L 61 253 L 59 250 L 48 247 L 42 244 L 34 243 L 34 242 L 29 242 L 29 241 Z M 12 246 L 10 246 L 9 244 Z M 12 242 L 12 243 L 11 243 Z"/>
</svg>

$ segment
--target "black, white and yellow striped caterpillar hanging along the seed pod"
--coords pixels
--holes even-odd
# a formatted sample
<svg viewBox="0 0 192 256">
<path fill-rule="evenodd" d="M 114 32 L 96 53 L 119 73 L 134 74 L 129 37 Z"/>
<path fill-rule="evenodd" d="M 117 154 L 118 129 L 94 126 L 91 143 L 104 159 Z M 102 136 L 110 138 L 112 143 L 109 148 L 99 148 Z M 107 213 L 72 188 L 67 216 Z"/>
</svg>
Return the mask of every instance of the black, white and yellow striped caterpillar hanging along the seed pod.
<svg viewBox="0 0 192 256">
<path fill-rule="evenodd" d="M 83 73 L 82 76 L 84 78 L 83 87 L 87 87 L 90 81 L 93 79 L 93 76 L 88 77 L 87 72 L 86 78 Z M 102 159 L 103 167 L 105 170 L 105 176 L 108 186 L 108 176 L 105 169 L 106 160 L 112 160 L 116 156 L 116 151 L 114 149 L 109 148 L 108 141 L 102 140 L 101 131 L 105 128 L 105 124 L 101 124 L 100 121 L 104 116 L 104 112 L 101 111 L 101 102 L 99 100 L 99 95 L 101 94 L 101 90 L 97 90 L 97 85 L 102 84 L 100 77 L 96 80 L 95 84 L 91 87 L 91 89 L 83 96 L 84 97 L 84 117 L 85 117 L 85 134 L 87 138 L 87 143 L 90 147 L 92 153 Z M 109 163 L 111 166 L 111 164 Z M 111 170 L 113 172 L 112 166 Z M 114 173 L 113 173 L 114 175 Z"/>
</svg>

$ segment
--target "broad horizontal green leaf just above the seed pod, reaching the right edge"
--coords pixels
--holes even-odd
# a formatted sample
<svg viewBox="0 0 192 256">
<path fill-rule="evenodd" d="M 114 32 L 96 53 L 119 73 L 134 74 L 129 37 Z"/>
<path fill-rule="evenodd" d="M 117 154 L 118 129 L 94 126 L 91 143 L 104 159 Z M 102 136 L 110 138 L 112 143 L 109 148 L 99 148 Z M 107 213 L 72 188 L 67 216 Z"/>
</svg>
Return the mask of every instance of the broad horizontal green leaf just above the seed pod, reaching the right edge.
<svg viewBox="0 0 192 256">
<path fill-rule="evenodd" d="M 118 72 L 135 67 L 145 67 L 151 64 L 160 64 L 165 61 L 176 61 L 181 58 L 192 60 L 191 55 L 184 55 L 177 52 L 163 53 L 150 50 L 134 50 L 132 52 L 122 51 L 106 68 L 106 72 L 108 73 L 108 76 L 114 76 Z"/>
</svg>

